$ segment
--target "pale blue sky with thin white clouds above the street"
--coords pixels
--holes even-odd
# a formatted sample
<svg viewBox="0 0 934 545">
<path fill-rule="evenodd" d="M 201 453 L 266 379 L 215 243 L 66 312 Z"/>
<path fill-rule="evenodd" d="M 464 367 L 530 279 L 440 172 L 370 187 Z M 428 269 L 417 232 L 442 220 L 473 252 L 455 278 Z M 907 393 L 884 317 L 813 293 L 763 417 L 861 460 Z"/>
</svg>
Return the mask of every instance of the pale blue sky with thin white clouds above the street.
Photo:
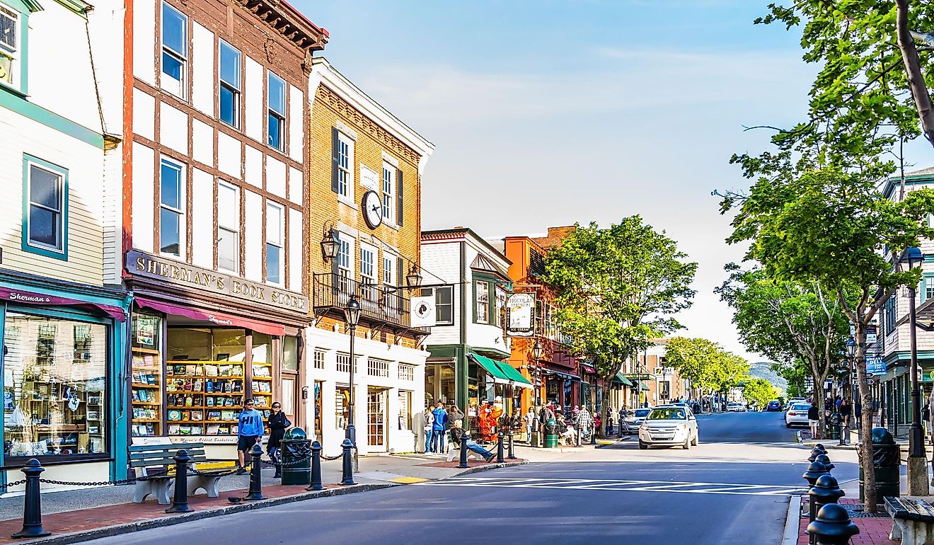
<svg viewBox="0 0 934 545">
<path fill-rule="evenodd" d="M 713 292 L 744 249 L 711 192 L 748 187 L 731 154 L 770 149 L 745 126 L 806 115 L 816 69 L 798 32 L 753 24 L 767 0 L 292 4 L 330 32 L 318 55 L 435 145 L 423 229 L 538 235 L 639 214 L 700 265 L 677 335 L 764 359 Z"/>
</svg>

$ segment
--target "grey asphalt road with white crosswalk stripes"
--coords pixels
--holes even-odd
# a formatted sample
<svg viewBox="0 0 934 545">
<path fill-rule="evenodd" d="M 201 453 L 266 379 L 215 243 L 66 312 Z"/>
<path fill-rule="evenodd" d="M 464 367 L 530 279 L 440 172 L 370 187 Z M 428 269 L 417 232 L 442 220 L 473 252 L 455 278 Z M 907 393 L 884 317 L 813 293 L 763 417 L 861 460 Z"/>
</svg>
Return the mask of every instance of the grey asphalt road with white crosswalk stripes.
<svg viewBox="0 0 934 545">
<path fill-rule="evenodd" d="M 808 451 L 781 413 L 701 416 L 701 445 L 634 440 L 497 469 L 92 541 L 197 543 L 633 543 L 778 545 Z M 750 438 L 753 444 L 737 442 Z M 842 458 L 841 454 L 841 458 Z M 855 464 L 836 461 L 840 480 Z"/>
</svg>

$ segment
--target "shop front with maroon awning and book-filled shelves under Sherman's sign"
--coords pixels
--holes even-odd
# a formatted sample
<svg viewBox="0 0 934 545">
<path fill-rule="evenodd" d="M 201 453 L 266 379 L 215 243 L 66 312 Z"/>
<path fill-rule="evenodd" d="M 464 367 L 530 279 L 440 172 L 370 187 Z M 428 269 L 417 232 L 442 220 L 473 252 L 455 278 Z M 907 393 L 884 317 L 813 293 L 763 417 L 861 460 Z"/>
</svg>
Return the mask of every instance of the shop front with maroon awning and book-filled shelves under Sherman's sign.
<svg viewBox="0 0 934 545">
<path fill-rule="evenodd" d="M 156 290 L 148 279 L 134 279 L 134 443 L 160 440 L 149 437 L 197 441 L 205 443 L 209 458 L 233 459 L 237 417 L 247 399 L 263 418 L 277 402 L 291 423 L 305 425 L 300 370 L 307 300 L 247 280 L 224 280 L 233 293 L 182 293 L 174 284 Z M 301 311 L 283 312 L 273 301 L 284 299 L 268 300 L 272 294 L 290 297 Z"/>
</svg>

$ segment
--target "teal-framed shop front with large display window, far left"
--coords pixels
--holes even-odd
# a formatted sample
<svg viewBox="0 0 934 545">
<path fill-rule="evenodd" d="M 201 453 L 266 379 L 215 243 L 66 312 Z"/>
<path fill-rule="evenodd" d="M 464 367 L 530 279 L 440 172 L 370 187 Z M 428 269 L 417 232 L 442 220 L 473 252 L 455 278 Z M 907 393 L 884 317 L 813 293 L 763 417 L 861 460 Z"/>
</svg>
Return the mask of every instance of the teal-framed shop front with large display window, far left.
<svg viewBox="0 0 934 545">
<path fill-rule="evenodd" d="M 125 478 L 126 294 L 5 272 L 0 300 L 4 482 L 31 458 L 47 479 Z"/>
</svg>

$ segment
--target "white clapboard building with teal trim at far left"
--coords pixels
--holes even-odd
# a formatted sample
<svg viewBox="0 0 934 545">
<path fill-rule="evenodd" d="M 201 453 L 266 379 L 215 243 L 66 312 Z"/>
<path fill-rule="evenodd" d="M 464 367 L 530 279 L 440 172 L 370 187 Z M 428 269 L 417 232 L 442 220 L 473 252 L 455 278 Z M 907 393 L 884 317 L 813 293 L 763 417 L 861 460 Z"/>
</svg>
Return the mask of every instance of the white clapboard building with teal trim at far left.
<svg viewBox="0 0 934 545">
<path fill-rule="evenodd" d="M 4 482 L 34 457 L 47 479 L 126 473 L 129 298 L 105 275 L 116 251 L 106 215 L 120 202 L 107 189 L 120 139 L 108 133 L 120 112 L 115 121 L 98 90 L 114 82 L 97 39 L 119 32 L 114 9 L 0 0 Z"/>
</svg>

